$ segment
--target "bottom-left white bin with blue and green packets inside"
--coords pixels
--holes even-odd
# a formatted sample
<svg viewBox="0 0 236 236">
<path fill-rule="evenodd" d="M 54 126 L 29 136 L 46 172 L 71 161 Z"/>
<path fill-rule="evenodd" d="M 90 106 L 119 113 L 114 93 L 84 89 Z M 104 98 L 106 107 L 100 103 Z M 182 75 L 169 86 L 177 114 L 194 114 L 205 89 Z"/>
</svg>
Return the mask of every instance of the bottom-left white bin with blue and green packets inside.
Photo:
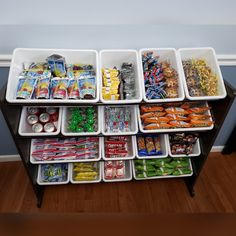
<svg viewBox="0 0 236 236">
<path fill-rule="evenodd" d="M 69 182 L 68 172 L 67 163 L 39 165 L 37 183 L 39 185 L 67 184 Z"/>
</svg>

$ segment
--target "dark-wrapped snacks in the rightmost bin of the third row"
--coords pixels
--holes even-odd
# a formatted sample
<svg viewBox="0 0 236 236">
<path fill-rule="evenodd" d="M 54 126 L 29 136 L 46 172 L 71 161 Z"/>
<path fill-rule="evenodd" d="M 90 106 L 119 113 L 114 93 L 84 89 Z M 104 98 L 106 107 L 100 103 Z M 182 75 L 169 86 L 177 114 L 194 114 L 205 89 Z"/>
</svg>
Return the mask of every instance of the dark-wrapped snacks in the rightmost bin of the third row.
<svg viewBox="0 0 236 236">
<path fill-rule="evenodd" d="M 189 155 L 198 140 L 196 133 L 169 134 L 170 150 L 173 155 Z"/>
</svg>

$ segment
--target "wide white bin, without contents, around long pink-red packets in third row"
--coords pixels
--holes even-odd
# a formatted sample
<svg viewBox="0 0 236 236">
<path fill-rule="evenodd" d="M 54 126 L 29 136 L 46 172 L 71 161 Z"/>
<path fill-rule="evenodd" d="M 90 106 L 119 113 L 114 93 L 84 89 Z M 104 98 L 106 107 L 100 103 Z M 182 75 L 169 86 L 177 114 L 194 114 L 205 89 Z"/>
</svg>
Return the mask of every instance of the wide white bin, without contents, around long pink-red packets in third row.
<svg viewBox="0 0 236 236">
<path fill-rule="evenodd" d="M 30 162 L 32 164 L 52 164 L 52 163 L 72 163 L 72 162 L 93 162 L 100 161 L 102 158 L 102 139 L 99 138 L 99 148 L 98 148 L 98 156 L 94 159 L 64 159 L 64 160 L 46 160 L 46 161 L 37 161 L 33 156 L 32 152 L 35 150 L 35 146 L 33 145 L 35 139 L 31 139 L 31 147 L 30 147 Z"/>
</svg>

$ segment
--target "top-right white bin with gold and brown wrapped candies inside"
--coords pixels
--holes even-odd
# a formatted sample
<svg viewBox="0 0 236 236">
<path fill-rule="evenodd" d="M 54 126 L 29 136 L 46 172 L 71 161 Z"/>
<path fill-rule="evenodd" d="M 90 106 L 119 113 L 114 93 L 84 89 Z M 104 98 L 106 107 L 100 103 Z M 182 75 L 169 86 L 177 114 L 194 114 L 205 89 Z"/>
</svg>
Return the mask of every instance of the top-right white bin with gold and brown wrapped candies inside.
<svg viewBox="0 0 236 236">
<path fill-rule="evenodd" d="M 189 100 L 226 97 L 221 70 L 213 48 L 181 48 L 184 90 Z"/>
</svg>

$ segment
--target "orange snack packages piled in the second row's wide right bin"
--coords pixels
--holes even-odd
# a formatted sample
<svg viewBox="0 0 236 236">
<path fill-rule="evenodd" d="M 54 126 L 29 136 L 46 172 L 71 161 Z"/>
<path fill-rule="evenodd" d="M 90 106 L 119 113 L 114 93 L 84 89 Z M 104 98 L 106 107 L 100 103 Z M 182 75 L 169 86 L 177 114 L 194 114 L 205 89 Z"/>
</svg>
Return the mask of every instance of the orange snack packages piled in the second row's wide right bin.
<svg viewBox="0 0 236 236">
<path fill-rule="evenodd" d="M 213 124 L 209 110 L 205 102 L 141 105 L 140 117 L 145 130 L 208 127 Z"/>
</svg>

